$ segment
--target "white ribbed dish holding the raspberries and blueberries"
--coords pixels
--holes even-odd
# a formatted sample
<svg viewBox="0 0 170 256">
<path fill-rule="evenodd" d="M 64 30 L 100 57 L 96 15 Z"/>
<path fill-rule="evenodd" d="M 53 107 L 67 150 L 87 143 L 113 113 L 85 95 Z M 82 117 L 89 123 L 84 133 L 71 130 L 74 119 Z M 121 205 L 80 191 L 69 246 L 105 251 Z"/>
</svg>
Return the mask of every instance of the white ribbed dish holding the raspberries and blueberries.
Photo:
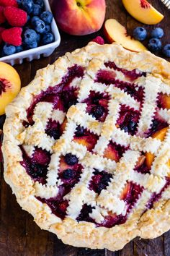
<svg viewBox="0 0 170 256">
<path fill-rule="evenodd" d="M 44 0 L 44 2 L 45 2 L 45 10 L 51 12 L 50 4 L 48 0 Z M 32 59 L 40 59 L 41 55 L 44 57 L 50 56 L 50 54 L 53 54 L 53 51 L 55 50 L 55 48 L 57 48 L 61 43 L 61 36 L 58 32 L 58 27 L 54 19 L 51 24 L 51 28 L 55 36 L 55 41 L 53 43 L 49 43 L 45 46 L 39 46 L 37 48 L 33 48 L 27 51 L 22 51 L 17 54 L 12 54 L 9 56 L 2 57 L 0 58 L 0 61 L 4 61 L 13 66 L 14 64 L 22 64 L 24 59 L 26 59 L 27 61 L 32 61 Z"/>
</svg>

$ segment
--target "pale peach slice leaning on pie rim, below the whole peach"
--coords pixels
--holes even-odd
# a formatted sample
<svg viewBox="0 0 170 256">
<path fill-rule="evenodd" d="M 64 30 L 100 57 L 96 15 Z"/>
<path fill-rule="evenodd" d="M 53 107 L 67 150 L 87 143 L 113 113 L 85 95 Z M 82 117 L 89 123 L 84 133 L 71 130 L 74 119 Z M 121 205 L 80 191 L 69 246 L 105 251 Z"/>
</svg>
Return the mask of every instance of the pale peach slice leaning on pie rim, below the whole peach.
<svg viewBox="0 0 170 256">
<path fill-rule="evenodd" d="M 104 23 L 104 34 L 109 43 L 120 43 L 130 51 L 144 51 L 146 47 L 138 40 L 127 35 L 127 30 L 117 20 L 109 19 Z"/>
</svg>

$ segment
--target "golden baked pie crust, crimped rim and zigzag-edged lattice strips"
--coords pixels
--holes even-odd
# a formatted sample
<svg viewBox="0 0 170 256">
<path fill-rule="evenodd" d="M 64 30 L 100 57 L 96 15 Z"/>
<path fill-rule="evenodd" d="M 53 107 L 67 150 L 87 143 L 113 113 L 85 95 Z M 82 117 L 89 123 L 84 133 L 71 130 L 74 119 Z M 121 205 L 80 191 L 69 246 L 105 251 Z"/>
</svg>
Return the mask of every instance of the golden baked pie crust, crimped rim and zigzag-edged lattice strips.
<svg viewBox="0 0 170 256">
<path fill-rule="evenodd" d="M 146 77 L 138 78 L 138 83 L 143 83 L 144 87 L 146 85 L 146 101 L 148 105 L 153 103 L 153 106 L 155 106 L 156 99 L 154 101 L 151 96 L 154 93 L 155 95 L 158 92 L 170 94 L 170 64 L 164 59 L 160 59 L 148 51 L 130 52 L 115 43 L 112 45 L 105 44 L 104 46 L 100 46 L 97 43 L 89 43 L 84 48 L 67 53 L 55 61 L 53 65 L 48 65 L 48 67 L 37 71 L 35 79 L 30 82 L 30 85 L 22 88 L 17 98 L 6 108 L 2 151 L 4 155 L 5 181 L 12 187 L 12 192 L 16 195 L 19 205 L 32 214 L 41 229 L 53 232 L 64 243 L 75 247 L 107 248 L 115 251 L 122 249 L 125 244 L 136 236 L 152 239 L 161 236 L 161 234 L 170 229 L 169 187 L 161 195 L 161 199 L 154 203 L 153 208 L 146 209 L 146 203 L 150 199 L 151 193 L 160 191 L 164 187 L 165 177 L 170 176 L 169 167 L 166 165 L 170 158 L 170 129 L 166 133 L 164 142 L 151 137 L 143 137 L 143 132 L 147 126 L 149 127 L 150 117 L 152 118 L 153 115 L 153 113 L 145 111 L 147 104 L 143 106 L 142 121 L 140 121 L 140 131 L 137 136 L 127 135 L 115 127 L 115 116 L 120 102 L 131 104 L 137 109 L 138 103 L 132 101 L 121 90 L 112 90 L 107 85 L 101 85 L 98 88 L 97 85 L 95 85 L 96 87 L 94 86 L 97 71 L 105 68 L 104 62 L 106 61 L 114 61 L 117 67 L 123 69 L 138 69 L 140 72 L 147 72 Z M 40 94 L 42 90 L 47 90 L 49 86 L 53 87 L 59 84 L 62 77 L 66 75 L 68 67 L 72 67 L 74 64 L 85 68 L 84 77 L 76 79 L 72 85 L 80 88 L 80 101 L 86 98 L 90 88 L 93 86 L 95 87 L 94 90 L 107 90 L 114 98 L 113 103 L 109 104 L 109 117 L 106 121 L 100 124 L 99 121 L 89 115 L 87 116 L 83 103 L 71 106 L 67 114 L 61 113 L 62 111 L 52 113 L 53 106 L 50 106 L 50 103 L 38 103 L 34 112 L 35 124 L 32 127 L 25 128 L 22 125 L 22 121 L 27 120 L 26 110 L 29 108 L 32 98 Z M 153 111 L 153 108 L 151 108 L 151 111 Z M 161 109 L 160 112 L 169 123 L 170 110 Z M 45 135 L 44 132 L 47 120 L 52 114 L 53 116 L 58 116 L 60 120 L 63 120 L 66 115 L 68 118 L 67 132 L 57 141 Z M 76 143 L 69 140 L 69 132 L 79 122 L 100 136 L 101 141 L 97 143 L 96 154 L 87 152 L 83 146 L 76 145 Z M 130 150 L 120 159 L 119 163 L 102 157 L 102 147 L 113 135 L 117 137 L 119 143 L 124 142 L 130 145 Z M 24 145 L 27 148 L 27 153 L 30 154 L 34 146 L 53 153 L 53 163 L 50 164 L 51 169 L 49 168 L 47 184 L 42 185 L 34 182 L 27 174 L 25 168 L 20 164 L 22 153 L 19 145 Z M 84 177 L 81 176 L 81 182 L 76 184 L 71 195 L 68 195 L 68 201 L 70 202 L 68 216 L 61 220 L 51 212 L 47 204 L 37 200 L 36 196 L 50 198 L 55 195 L 57 185 L 54 181 L 57 178 L 57 174 L 53 171 L 53 176 L 50 171 L 57 169 L 60 154 L 67 153 L 67 150 L 79 156 L 81 163 L 86 166 L 86 170 L 84 171 Z M 134 174 L 133 168 L 141 151 L 151 152 L 156 155 L 151 174 Z M 112 184 L 108 186 L 109 189 L 102 190 L 98 196 L 87 189 L 88 182 L 91 179 L 91 168 L 95 168 L 95 165 L 107 168 L 110 173 L 114 169 L 115 176 L 118 177 L 119 175 L 120 177 L 117 178 L 117 182 L 113 178 Z M 117 195 L 117 191 L 120 184 L 127 179 L 138 182 L 145 189 L 124 224 L 105 228 L 97 227 L 94 223 L 86 221 L 76 221 L 76 216 L 81 210 L 82 203 L 87 200 L 91 203 L 96 202 L 97 208 L 93 212 L 93 217 L 98 222 L 101 221 L 104 211 L 112 210 L 113 213 L 122 213 L 125 205 Z M 115 189 L 116 186 L 118 190 Z M 79 202 L 77 202 L 78 197 Z"/>
</svg>

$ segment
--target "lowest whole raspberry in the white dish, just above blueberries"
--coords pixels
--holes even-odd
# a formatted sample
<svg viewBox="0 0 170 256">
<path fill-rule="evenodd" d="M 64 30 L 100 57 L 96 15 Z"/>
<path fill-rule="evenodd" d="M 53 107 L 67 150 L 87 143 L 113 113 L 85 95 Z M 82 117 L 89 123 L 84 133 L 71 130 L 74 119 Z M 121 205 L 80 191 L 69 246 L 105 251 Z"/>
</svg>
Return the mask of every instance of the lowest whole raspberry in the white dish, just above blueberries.
<svg viewBox="0 0 170 256">
<path fill-rule="evenodd" d="M 4 30 L 1 33 L 1 37 L 5 43 L 12 44 L 13 46 L 22 45 L 22 28 L 21 27 L 12 27 L 7 30 Z"/>
</svg>

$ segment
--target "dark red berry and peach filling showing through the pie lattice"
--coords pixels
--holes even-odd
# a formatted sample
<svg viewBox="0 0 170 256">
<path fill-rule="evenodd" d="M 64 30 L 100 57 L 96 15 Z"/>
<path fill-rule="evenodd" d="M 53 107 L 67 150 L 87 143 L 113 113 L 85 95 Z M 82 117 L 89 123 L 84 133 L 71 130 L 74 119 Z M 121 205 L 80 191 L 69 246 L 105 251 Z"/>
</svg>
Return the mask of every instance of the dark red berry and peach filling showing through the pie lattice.
<svg viewBox="0 0 170 256">
<path fill-rule="evenodd" d="M 121 69 L 117 67 L 114 62 L 107 62 L 104 64 L 105 67 L 111 70 L 99 70 L 97 73 L 97 80 L 95 82 L 102 82 L 105 85 L 113 85 L 120 90 L 128 93 L 135 101 L 140 103 L 140 108 L 143 107 L 144 90 L 142 87 L 136 85 L 135 80 L 139 77 L 146 77 L 145 72 L 139 72 L 137 69 L 128 71 L 126 69 Z M 117 79 L 117 72 L 122 72 L 128 82 L 121 81 Z M 29 127 L 34 124 L 32 116 L 34 114 L 34 109 L 39 102 L 49 102 L 53 103 L 53 109 L 58 109 L 66 113 L 68 108 L 75 105 L 78 102 L 79 89 L 71 87 L 71 82 L 76 77 L 83 77 L 84 69 L 80 66 L 74 65 L 68 68 L 68 74 L 63 77 L 62 82 L 59 85 L 55 85 L 53 88 L 50 87 L 46 91 L 42 91 L 39 95 L 35 96 L 32 100 L 30 108 L 27 109 L 27 121 L 23 121 L 24 127 Z M 104 122 L 109 113 L 108 103 L 110 96 L 107 93 L 96 93 L 93 90 L 90 91 L 88 98 L 86 98 L 82 103 L 86 103 L 86 112 L 93 116 L 100 122 Z M 169 96 L 164 94 L 158 95 L 157 108 L 170 108 Z M 157 109 L 156 108 L 156 109 Z M 119 116 L 117 118 L 116 127 L 124 130 L 129 135 L 136 135 L 138 131 L 138 121 L 140 119 L 140 111 L 137 111 L 129 106 L 121 105 Z M 66 129 L 67 119 L 65 118 L 63 124 L 53 119 L 48 119 L 48 124 L 45 127 L 45 133 L 52 137 L 54 140 L 58 140 Z M 165 133 L 164 129 L 167 129 L 168 123 L 161 119 L 157 114 L 153 117 L 151 127 L 146 131 L 146 137 L 156 137 L 161 140 L 162 135 L 158 135 L 160 132 Z M 84 145 L 90 153 L 94 153 L 94 147 L 99 140 L 99 136 L 89 131 L 89 129 L 84 128 L 81 125 L 77 125 L 76 131 L 73 135 L 73 142 Z M 29 174 L 35 182 L 40 182 L 46 184 L 48 166 L 50 163 L 51 155 L 48 151 L 42 150 L 41 148 L 35 147 L 34 153 L 30 157 L 27 155 L 24 146 L 20 147 L 22 150 L 23 161 L 21 165 L 26 169 L 27 174 Z M 118 163 L 120 158 L 125 154 L 128 147 L 122 145 L 117 145 L 116 142 L 110 140 L 107 148 L 105 148 L 103 153 L 103 158 L 107 158 L 108 161 L 115 161 Z M 150 174 L 151 164 L 153 162 L 154 155 L 151 153 L 140 153 L 137 163 L 135 164 L 134 171 L 140 174 Z M 60 158 L 58 166 L 58 179 L 61 183 L 58 187 L 58 194 L 56 197 L 50 199 L 45 199 L 42 197 L 37 197 L 43 203 L 46 203 L 52 213 L 61 219 L 66 218 L 67 209 L 69 201 L 66 200 L 66 195 L 71 192 L 73 187 L 79 183 L 81 174 L 84 171 L 84 166 L 79 163 L 79 158 L 76 155 L 67 153 L 62 155 Z M 97 168 L 89 181 L 88 188 L 91 192 L 95 192 L 97 197 L 101 194 L 103 190 L 106 190 L 110 182 L 114 179 L 114 174 L 110 174 L 107 171 L 99 171 Z M 146 208 L 153 208 L 154 202 L 161 198 L 164 190 L 169 187 L 170 179 L 166 177 L 166 184 L 158 193 L 153 193 L 151 200 L 148 201 Z M 107 215 L 103 216 L 104 220 L 101 223 L 92 218 L 91 213 L 95 210 L 94 205 L 88 205 L 84 203 L 82 205 L 79 216 L 76 221 L 87 221 L 95 223 L 96 226 L 103 226 L 106 228 L 111 228 L 115 225 L 120 225 L 128 220 L 128 215 L 131 210 L 135 208 L 135 204 L 140 199 L 143 193 L 144 187 L 140 184 L 135 184 L 132 181 L 127 181 L 124 189 L 122 189 L 120 200 L 125 202 L 126 210 L 124 213 L 117 215 L 116 213 L 107 210 Z"/>
</svg>

